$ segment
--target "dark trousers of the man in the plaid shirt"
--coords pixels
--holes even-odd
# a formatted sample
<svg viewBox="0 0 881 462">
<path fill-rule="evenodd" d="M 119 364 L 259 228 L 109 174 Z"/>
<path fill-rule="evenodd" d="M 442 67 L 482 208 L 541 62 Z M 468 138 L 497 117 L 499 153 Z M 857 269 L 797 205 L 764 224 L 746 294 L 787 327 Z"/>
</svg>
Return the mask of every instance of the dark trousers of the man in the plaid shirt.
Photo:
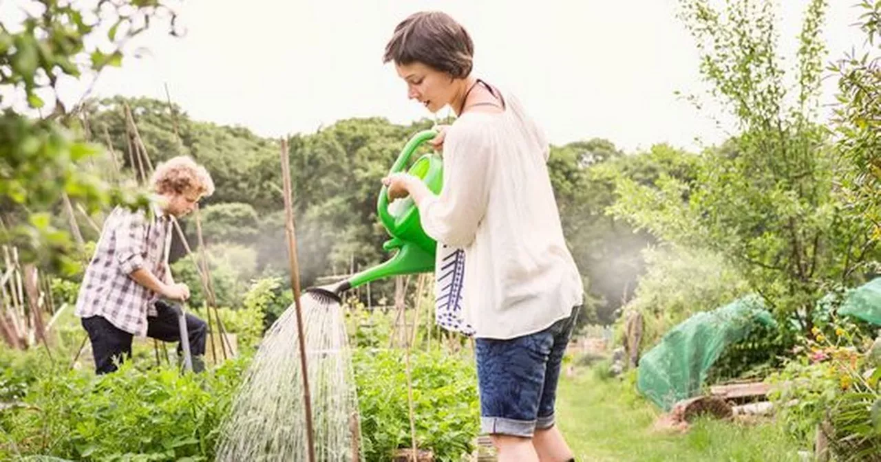
<svg viewBox="0 0 881 462">
<path fill-rule="evenodd" d="M 178 324 L 179 306 L 167 304 L 159 300 L 155 304 L 156 317 L 147 317 L 147 336 L 160 341 L 181 341 L 181 327 Z M 110 324 L 107 319 L 92 316 L 82 319 L 85 332 L 92 341 L 92 352 L 95 358 L 95 372 L 107 374 L 116 370 L 116 363 L 122 363 L 131 357 L 132 334 Z M 187 313 L 187 336 L 189 351 L 193 357 L 193 370 L 204 370 L 202 356 L 205 354 L 205 340 L 208 325 L 205 321 Z M 177 346 L 178 356 L 182 356 L 182 348 Z"/>
</svg>

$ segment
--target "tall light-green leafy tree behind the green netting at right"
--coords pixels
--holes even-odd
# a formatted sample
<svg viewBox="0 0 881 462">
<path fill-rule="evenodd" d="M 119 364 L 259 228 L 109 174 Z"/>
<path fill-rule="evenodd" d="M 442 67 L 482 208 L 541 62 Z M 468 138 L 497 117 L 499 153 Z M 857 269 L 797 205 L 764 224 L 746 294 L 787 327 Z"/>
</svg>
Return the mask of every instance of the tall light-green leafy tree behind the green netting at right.
<svg viewBox="0 0 881 462">
<path fill-rule="evenodd" d="M 723 255 L 780 319 L 810 331 L 819 297 L 862 275 L 870 248 L 865 224 L 837 192 L 841 169 L 815 122 L 825 2 L 808 7 L 792 85 L 772 2 L 728 0 L 724 11 L 680 4 L 701 73 L 740 133 L 704 153 L 692 183 L 619 181 L 613 211 L 668 242 Z"/>
</svg>

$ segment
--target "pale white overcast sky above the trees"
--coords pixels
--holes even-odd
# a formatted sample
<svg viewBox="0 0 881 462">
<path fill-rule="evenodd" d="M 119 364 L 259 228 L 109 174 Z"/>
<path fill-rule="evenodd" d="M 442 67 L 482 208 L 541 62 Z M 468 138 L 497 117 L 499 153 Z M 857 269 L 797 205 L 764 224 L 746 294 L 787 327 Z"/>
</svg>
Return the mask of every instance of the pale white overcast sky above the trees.
<svg viewBox="0 0 881 462">
<path fill-rule="evenodd" d="M 0 18 L 24 1 L 0 0 Z M 862 35 L 850 26 L 855 0 L 830 3 L 831 60 L 862 46 Z M 781 48 L 791 52 L 807 0 L 778 4 Z M 654 143 L 697 150 L 726 136 L 713 107 L 700 112 L 675 94 L 704 88 L 677 0 L 188 0 L 177 8 L 182 38 L 157 26 L 131 44 L 149 53 L 107 70 L 93 93 L 166 99 L 167 84 L 191 118 L 261 136 L 313 133 L 351 117 L 431 118 L 381 62 L 396 24 L 422 10 L 446 11 L 466 27 L 476 75 L 515 92 L 554 144 L 603 137 L 627 151 Z M 825 101 L 834 84 L 825 82 Z M 78 99 L 86 86 L 66 85 L 62 99 Z"/>
</svg>

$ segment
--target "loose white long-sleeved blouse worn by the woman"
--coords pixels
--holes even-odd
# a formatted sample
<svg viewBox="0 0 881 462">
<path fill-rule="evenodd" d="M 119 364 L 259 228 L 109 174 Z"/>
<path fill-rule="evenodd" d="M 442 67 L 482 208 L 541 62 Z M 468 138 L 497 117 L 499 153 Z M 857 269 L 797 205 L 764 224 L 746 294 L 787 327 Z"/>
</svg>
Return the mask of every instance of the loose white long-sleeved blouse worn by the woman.
<svg viewBox="0 0 881 462">
<path fill-rule="evenodd" d="M 443 189 L 419 205 L 441 245 L 464 250 L 463 321 L 511 339 L 568 317 L 584 288 L 566 247 L 544 133 L 513 95 L 504 112 L 465 113 L 444 139 Z"/>
</svg>

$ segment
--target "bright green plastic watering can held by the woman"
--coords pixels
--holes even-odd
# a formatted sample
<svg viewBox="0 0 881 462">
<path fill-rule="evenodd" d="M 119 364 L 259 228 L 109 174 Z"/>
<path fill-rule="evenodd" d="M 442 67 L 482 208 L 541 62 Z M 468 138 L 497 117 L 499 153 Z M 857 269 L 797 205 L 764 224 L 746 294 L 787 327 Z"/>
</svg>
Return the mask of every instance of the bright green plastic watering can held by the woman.
<svg viewBox="0 0 881 462">
<path fill-rule="evenodd" d="M 423 130 L 414 136 L 403 146 L 395 164 L 391 166 L 389 174 L 403 172 L 410 158 L 417 148 L 434 136 L 435 130 Z M 441 193 L 443 186 L 443 163 L 437 154 L 425 154 L 418 158 L 407 171 L 421 179 L 434 194 Z M 408 196 L 389 204 L 388 187 L 383 186 L 380 190 L 376 211 L 380 217 L 382 226 L 389 231 L 391 238 L 382 245 L 387 252 L 396 251 L 395 255 L 385 262 L 367 268 L 356 275 L 352 275 L 343 281 L 329 285 L 309 288 L 306 291 L 318 297 L 329 297 L 337 303 L 341 301 L 340 294 L 345 290 L 358 287 L 366 282 L 376 281 L 394 275 L 412 275 L 416 273 L 433 272 L 434 253 L 437 242 L 428 237 L 422 230 L 419 220 L 419 210 L 416 203 Z"/>
</svg>

